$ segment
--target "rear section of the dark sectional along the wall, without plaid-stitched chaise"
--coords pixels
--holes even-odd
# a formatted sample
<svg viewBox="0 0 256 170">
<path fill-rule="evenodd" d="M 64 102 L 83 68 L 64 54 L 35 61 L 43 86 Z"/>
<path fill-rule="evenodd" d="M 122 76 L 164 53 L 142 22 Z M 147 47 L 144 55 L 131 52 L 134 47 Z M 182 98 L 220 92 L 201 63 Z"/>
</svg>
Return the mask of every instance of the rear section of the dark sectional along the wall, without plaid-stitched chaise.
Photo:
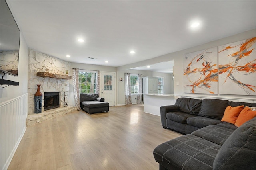
<svg viewBox="0 0 256 170">
<path fill-rule="evenodd" d="M 240 105 L 256 107 L 256 103 L 178 98 L 174 105 L 160 107 L 161 123 L 166 129 L 190 134 L 202 127 L 221 123 L 220 120 L 227 106 Z"/>
</svg>

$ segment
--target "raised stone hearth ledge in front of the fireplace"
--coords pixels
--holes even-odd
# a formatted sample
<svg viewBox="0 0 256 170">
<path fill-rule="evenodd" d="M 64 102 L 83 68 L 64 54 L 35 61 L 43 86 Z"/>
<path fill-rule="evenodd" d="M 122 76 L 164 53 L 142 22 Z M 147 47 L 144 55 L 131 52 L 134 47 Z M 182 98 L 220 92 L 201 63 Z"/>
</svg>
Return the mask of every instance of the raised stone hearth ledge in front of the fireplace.
<svg viewBox="0 0 256 170">
<path fill-rule="evenodd" d="M 45 120 L 53 119 L 55 117 L 65 115 L 67 113 L 71 113 L 76 110 L 77 110 L 76 106 L 66 106 L 66 107 L 59 107 L 56 109 L 43 111 L 42 113 L 39 113 L 39 114 L 36 114 L 36 113 L 30 114 L 27 117 L 26 125 L 27 126 L 36 125 L 38 123 L 42 123 Z"/>
</svg>

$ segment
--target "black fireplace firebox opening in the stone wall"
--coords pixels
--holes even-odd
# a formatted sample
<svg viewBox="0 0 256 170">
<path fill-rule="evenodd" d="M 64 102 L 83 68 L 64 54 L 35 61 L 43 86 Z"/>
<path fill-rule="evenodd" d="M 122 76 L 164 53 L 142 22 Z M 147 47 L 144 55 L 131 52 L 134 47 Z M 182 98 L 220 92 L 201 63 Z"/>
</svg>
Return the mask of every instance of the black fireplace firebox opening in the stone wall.
<svg viewBox="0 0 256 170">
<path fill-rule="evenodd" d="M 44 110 L 60 107 L 60 92 L 44 92 Z"/>
</svg>

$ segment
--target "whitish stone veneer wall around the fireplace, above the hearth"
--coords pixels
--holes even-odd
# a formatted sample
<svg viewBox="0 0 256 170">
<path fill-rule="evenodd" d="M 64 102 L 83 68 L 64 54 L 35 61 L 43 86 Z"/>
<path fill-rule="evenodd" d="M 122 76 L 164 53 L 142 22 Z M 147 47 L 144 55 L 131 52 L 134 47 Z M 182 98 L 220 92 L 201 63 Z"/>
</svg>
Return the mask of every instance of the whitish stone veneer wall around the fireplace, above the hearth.
<svg viewBox="0 0 256 170">
<path fill-rule="evenodd" d="M 36 84 L 41 84 L 40 91 L 43 94 L 42 112 L 44 111 L 44 92 L 60 92 L 60 107 L 64 107 L 64 93 L 67 95 L 66 102 L 68 103 L 69 80 L 59 78 L 38 77 L 37 72 L 45 72 L 46 68 L 50 73 L 66 74 L 70 76 L 70 65 L 68 61 L 64 61 L 57 57 L 28 50 L 28 114 L 35 113 L 34 111 L 34 94 L 36 93 Z"/>
</svg>

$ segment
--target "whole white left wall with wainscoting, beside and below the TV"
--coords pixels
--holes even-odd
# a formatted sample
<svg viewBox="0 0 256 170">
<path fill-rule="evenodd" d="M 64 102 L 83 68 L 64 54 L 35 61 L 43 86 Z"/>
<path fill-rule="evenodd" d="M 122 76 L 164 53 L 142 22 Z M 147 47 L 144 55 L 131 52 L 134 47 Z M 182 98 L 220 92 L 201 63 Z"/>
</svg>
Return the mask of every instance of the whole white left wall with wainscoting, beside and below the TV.
<svg viewBox="0 0 256 170">
<path fill-rule="evenodd" d="M 28 115 L 28 46 L 21 33 L 18 77 L 4 79 L 19 86 L 0 86 L 0 169 L 6 170 L 26 130 Z M 2 77 L 3 74 L 0 74 Z"/>
</svg>

